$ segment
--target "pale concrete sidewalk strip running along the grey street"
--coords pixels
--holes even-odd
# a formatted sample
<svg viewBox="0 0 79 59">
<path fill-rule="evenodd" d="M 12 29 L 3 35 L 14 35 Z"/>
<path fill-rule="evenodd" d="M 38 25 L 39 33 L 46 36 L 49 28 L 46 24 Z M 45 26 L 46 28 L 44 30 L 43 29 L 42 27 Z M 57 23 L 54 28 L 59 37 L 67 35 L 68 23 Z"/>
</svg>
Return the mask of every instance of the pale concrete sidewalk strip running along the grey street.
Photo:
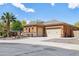
<svg viewBox="0 0 79 59">
<path fill-rule="evenodd" d="M 35 40 L 33 40 L 33 39 L 35 39 Z M 39 38 L 39 39 L 41 39 L 41 38 Z M 45 46 L 59 47 L 59 48 L 64 48 L 64 49 L 79 50 L 78 44 L 44 42 L 42 40 L 38 40 L 37 38 L 27 38 L 27 39 L 24 38 L 24 39 L 20 39 L 20 40 L 0 40 L 0 43 L 23 43 L 23 44 L 45 45 Z"/>
</svg>

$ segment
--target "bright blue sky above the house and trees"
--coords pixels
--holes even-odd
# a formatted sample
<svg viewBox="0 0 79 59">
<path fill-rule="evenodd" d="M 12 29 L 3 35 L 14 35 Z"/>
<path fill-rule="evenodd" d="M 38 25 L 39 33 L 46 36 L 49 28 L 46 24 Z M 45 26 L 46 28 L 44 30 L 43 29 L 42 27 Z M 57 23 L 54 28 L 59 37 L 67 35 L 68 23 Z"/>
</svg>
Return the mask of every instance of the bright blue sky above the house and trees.
<svg viewBox="0 0 79 59">
<path fill-rule="evenodd" d="M 41 19 L 49 21 L 56 19 L 70 24 L 79 21 L 79 8 L 69 8 L 67 3 L 55 3 L 53 5 L 50 3 L 24 3 L 20 8 L 15 4 L 0 5 L 0 16 L 6 11 L 16 15 L 18 20 Z"/>
</svg>

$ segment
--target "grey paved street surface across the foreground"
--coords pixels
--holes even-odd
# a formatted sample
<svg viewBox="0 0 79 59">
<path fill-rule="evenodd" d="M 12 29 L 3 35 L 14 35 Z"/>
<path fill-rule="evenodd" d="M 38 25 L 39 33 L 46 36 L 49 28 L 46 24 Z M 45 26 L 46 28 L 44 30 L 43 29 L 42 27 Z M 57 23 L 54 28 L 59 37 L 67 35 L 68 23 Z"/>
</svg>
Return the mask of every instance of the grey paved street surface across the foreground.
<svg viewBox="0 0 79 59">
<path fill-rule="evenodd" d="M 21 43 L 0 43 L 0 56 L 79 56 L 79 51 Z"/>
</svg>

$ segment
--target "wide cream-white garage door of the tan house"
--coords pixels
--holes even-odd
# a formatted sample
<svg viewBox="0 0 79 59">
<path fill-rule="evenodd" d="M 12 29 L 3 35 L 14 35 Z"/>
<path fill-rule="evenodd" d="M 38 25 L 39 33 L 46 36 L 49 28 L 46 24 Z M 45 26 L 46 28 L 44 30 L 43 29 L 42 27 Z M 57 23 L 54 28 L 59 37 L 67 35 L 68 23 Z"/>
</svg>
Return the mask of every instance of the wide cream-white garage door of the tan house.
<svg viewBox="0 0 79 59">
<path fill-rule="evenodd" d="M 47 29 L 47 37 L 59 38 L 61 37 L 61 29 Z"/>
</svg>

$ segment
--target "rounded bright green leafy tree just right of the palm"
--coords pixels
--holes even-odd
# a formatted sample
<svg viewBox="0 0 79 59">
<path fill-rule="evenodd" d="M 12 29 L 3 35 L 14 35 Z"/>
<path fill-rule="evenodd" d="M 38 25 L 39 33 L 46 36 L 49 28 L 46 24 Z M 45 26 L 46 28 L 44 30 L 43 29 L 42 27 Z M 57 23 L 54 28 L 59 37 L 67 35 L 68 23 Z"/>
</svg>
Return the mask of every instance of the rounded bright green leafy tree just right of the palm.
<svg viewBox="0 0 79 59">
<path fill-rule="evenodd" d="M 12 31 L 21 31 L 22 30 L 22 24 L 20 21 L 16 20 L 13 21 L 11 24 L 11 30 Z"/>
</svg>

